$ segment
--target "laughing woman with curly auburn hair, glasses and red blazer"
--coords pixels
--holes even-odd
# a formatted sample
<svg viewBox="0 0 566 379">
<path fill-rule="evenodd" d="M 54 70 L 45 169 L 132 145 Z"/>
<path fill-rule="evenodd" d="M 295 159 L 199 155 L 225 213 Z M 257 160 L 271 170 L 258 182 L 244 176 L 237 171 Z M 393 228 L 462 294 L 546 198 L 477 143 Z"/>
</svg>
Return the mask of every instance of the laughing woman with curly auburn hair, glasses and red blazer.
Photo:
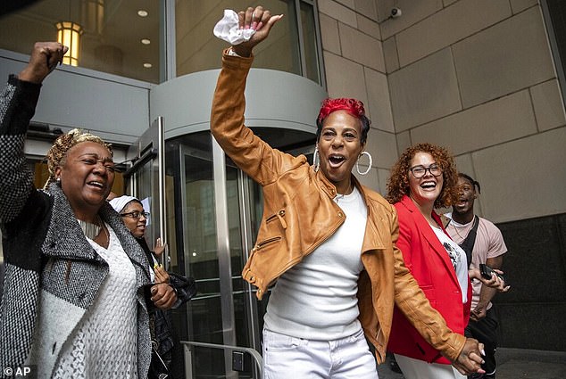
<svg viewBox="0 0 566 379">
<path fill-rule="evenodd" d="M 434 144 L 415 144 L 391 170 L 387 200 L 397 210 L 396 245 L 403 252 L 406 267 L 448 327 L 463 334 L 470 317 L 470 277 L 501 291 L 506 287 L 496 277 L 486 280 L 479 270 L 468 271 L 464 251 L 446 234 L 434 210 L 452 204 L 457 184 L 450 153 Z M 396 306 L 387 348 L 395 353 L 406 379 L 465 378 L 420 336 Z"/>
</svg>

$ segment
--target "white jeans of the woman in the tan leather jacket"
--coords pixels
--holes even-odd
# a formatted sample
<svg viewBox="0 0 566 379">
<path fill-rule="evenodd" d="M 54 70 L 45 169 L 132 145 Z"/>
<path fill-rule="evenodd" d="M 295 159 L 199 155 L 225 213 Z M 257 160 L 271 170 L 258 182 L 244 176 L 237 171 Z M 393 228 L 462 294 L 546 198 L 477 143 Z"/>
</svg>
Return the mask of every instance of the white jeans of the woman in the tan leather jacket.
<svg viewBox="0 0 566 379">
<path fill-rule="evenodd" d="M 360 329 L 332 341 L 295 338 L 263 329 L 264 379 L 376 379 L 376 360 Z"/>
</svg>

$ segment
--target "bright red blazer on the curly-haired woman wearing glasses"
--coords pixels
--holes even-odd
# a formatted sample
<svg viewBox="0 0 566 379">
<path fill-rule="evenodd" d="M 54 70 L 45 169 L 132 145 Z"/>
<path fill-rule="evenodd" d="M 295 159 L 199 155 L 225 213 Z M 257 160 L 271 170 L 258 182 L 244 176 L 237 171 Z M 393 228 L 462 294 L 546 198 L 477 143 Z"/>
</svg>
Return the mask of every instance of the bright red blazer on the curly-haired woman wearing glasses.
<svg viewBox="0 0 566 379">
<path fill-rule="evenodd" d="M 427 295 L 430 305 L 445 318 L 448 327 L 455 333 L 463 334 L 470 317 L 470 279 L 468 302 L 462 304 L 462 292 L 452 262 L 428 221 L 406 195 L 401 202 L 395 203 L 395 208 L 399 218 L 397 247 L 403 252 L 405 265 Z M 442 227 L 436 212 L 432 212 L 432 217 Z M 420 336 L 396 306 L 387 349 L 427 362 L 450 364 Z"/>
</svg>

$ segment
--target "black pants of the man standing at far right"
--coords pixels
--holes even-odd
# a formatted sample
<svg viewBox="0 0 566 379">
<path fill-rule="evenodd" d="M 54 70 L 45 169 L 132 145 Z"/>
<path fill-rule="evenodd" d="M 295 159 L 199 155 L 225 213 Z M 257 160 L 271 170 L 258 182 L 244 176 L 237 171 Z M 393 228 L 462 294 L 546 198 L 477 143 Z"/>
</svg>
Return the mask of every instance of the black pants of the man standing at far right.
<svg viewBox="0 0 566 379">
<path fill-rule="evenodd" d="M 487 310 L 486 317 L 479 321 L 474 321 L 470 318 L 468 326 L 464 334 L 466 337 L 475 338 L 484 344 L 486 356 L 484 360 L 486 363 L 481 365 L 481 368 L 486 370 L 486 374 L 482 376 L 472 375 L 472 377 L 480 378 L 495 378 L 495 350 L 497 349 L 497 318 L 493 307 Z"/>
</svg>

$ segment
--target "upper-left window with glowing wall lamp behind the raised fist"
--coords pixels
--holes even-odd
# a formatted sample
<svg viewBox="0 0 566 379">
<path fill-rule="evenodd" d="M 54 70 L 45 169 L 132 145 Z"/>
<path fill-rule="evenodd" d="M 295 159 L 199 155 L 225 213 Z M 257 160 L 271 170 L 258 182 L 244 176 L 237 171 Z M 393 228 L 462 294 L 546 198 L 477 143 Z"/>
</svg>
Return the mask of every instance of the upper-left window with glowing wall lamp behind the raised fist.
<svg viewBox="0 0 566 379">
<path fill-rule="evenodd" d="M 74 41 L 75 56 L 69 62 L 73 66 L 158 83 L 160 4 L 39 1 L 0 18 L 0 48 L 29 54 L 35 42 L 54 41 L 60 35 Z"/>
</svg>

